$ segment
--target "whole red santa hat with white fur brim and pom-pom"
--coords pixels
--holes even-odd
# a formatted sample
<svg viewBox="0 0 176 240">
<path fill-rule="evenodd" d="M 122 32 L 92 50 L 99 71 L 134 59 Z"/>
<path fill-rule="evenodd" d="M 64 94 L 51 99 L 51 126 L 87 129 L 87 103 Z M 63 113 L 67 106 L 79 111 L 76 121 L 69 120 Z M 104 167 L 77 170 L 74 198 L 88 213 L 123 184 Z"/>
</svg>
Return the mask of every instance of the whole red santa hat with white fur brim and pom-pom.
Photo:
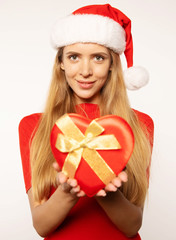
<svg viewBox="0 0 176 240">
<path fill-rule="evenodd" d="M 139 89 L 148 83 L 149 75 L 143 67 L 133 66 L 131 20 L 109 4 L 89 5 L 59 19 L 51 32 L 51 43 L 56 49 L 74 43 L 98 43 L 118 54 L 124 52 L 127 69 L 126 87 Z"/>
</svg>

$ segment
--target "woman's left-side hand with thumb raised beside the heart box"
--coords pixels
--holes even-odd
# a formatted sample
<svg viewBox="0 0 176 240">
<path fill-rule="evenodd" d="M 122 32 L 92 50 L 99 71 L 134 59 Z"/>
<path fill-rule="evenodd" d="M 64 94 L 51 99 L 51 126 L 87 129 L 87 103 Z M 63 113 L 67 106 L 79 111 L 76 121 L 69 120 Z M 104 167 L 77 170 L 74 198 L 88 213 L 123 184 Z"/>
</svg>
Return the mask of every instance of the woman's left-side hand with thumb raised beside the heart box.
<svg viewBox="0 0 176 240">
<path fill-rule="evenodd" d="M 63 172 L 61 172 L 61 169 L 57 162 L 53 163 L 53 167 L 58 172 L 56 177 L 57 185 L 60 185 L 64 192 L 70 193 L 77 197 L 85 196 L 84 191 L 80 189 L 80 186 L 78 185 L 76 179 L 68 178 Z"/>
</svg>

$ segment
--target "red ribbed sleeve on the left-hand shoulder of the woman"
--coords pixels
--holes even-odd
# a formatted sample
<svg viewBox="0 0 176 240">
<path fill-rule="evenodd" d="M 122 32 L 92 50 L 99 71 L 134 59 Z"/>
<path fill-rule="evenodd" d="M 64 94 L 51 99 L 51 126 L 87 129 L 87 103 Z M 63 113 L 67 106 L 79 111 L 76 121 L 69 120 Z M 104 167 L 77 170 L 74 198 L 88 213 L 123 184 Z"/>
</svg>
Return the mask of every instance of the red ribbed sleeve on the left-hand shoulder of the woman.
<svg viewBox="0 0 176 240">
<path fill-rule="evenodd" d="M 19 124 L 19 144 L 26 192 L 31 188 L 30 143 L 41 114 L 24 117 Z"/>
</svg>

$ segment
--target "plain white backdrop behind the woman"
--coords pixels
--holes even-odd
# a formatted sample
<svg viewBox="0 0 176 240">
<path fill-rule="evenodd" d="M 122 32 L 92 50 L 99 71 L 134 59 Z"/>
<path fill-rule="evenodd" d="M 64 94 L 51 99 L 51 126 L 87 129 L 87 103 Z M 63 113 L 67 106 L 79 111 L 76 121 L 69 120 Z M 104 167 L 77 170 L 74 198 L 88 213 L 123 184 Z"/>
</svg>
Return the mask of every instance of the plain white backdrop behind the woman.
<svg viewBox="0 0 176 240">
<path fill-rule="evenodd" d="M 32 227 L 18 143 L 20 119 L 41 112 L 56 52 L 49 41 L 58 17 L 88 4 L 110 3 L 132 20 L 134 64 L 150 73 L 129 92 L 131 106 L 155 123 L 143 240 L 173 240 L 176 217 L 175 0 L 0 0 L 0 239 L 41 239 Z"/>
</svg>

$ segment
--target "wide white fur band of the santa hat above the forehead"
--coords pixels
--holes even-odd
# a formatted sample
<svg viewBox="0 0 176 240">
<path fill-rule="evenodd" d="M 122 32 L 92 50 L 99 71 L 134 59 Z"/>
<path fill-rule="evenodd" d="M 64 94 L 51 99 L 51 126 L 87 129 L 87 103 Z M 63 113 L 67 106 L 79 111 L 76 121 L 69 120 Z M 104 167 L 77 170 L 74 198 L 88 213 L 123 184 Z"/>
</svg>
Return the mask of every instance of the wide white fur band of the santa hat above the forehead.
<svg viewBox="0 0 176 240">
<path fill-rule="evenodd" d="M 74 43 L 98 43 L 121 54 L 126 47 L 125 30 L 119 23 L 94 14 L 69 15 L 59 19 L 51 32 L 51 44 L 58 49 Z"/>
</svg>

